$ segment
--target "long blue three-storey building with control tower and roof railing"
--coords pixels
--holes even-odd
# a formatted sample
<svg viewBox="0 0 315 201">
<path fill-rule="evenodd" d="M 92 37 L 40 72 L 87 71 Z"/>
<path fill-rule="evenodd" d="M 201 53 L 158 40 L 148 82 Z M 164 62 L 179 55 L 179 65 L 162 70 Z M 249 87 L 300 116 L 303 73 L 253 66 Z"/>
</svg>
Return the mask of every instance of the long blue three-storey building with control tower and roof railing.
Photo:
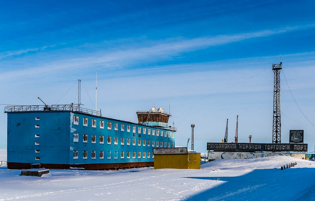
<svg viewBox="0 0 315 201">
<path fill-rule="evenodd" d="M 153 111 L 154 110 L 154 111 Z M 154 165 L 153 148 L 175 147 L 170 114 L 137 111 L 138 123 L 80 105 L 7 106 L 8 168 L 112 169 Z"/>
</svg>

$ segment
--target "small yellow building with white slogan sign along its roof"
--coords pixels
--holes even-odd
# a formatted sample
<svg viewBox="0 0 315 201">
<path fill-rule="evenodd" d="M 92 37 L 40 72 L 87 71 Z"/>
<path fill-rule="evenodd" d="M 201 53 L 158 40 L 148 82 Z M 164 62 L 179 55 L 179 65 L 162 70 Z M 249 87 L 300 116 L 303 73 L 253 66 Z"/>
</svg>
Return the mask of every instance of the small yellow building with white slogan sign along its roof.
<svg viewBox="0 0 315 201">
<path fill-rule="evenodd" d="M 155 148 L 154 169 L 200 169 L 200 153 L 187 152 L 187 148 Z"/>
</svg>

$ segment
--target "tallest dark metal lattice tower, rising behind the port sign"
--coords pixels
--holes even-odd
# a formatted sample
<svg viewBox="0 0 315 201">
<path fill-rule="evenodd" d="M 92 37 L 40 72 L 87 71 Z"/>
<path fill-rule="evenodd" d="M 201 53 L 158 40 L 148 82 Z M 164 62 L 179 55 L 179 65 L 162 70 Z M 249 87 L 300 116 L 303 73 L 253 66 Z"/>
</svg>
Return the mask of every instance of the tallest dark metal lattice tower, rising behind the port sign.
<svg viewBox="0 0 315 201">
<path fill-rule="evenodd" d="M 273 128 L 272 128 L 272 143 L 281 143 L 281 119 L 280 119 L 280 64 L 272 64 L 274 72 L 274 89 L 273 89 Z"/>
</svg>

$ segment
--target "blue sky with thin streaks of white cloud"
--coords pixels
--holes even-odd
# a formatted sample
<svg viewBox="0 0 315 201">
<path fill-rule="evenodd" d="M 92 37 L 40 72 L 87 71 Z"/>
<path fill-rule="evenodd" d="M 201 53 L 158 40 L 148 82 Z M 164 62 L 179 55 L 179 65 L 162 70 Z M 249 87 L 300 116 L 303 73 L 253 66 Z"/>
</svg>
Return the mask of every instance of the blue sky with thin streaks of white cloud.
<svg viewBox="0 0 315 201">
<path fill-rule="evenodd" d="M 272 142 L 273 72 L 280 62 L 302 111 L 313 124 L 314 1 L 7 1 L 0 8 L 1 104 L 55 104 L 81 79 L 84 107 L 137 122 L 153 103 L 168 111 L 185 146 L 195 124 L 195 150 L 220 142 L 229 118 L 234 140 Z M 282 142 L 312 126 L 281 74 Z M 215 93 L 215 94 L 214 94 Z M 89 99 L 89 96 L 91 100 Z M 214 94 L 214 95 L 212 95 Z M 76 85 L 59 101 L 76 101 Z M 4 109 L 4 105 L 1 105 Z M 6 148 L 0 115 L 0 149 Z"/>
</svg>

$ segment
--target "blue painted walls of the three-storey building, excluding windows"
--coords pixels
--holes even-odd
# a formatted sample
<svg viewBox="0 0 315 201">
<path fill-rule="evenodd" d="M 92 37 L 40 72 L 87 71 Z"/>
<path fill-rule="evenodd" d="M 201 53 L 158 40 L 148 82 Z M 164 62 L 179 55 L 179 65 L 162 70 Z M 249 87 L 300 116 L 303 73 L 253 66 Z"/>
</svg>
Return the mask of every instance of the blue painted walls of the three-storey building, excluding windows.
<svg viewBox="0 0 315 201">
<path fill-rule="evenodd" d="M 74 116 L 79 117 L 79 125 L 74 124 Z M 39 117 L 40 120 L 35 120 Z M 83 117 L 88 118 L 88 126 L 83 126 Z M 96 120 L 96 127 L 92 127 L 92 119 Z M 100 128 L 100 120 L 104 121 L 104 128 Z M 107 122 L 112 122 L 112 129 L 107 129 Z M 115 123 L 118 123 L 118 130 L 115 130 Z M 124 131 L 121 131 L 121 124 L 124 124 Z M 36 128 L 35 125 L 39 125 Z M 127 132 L 127 125 L 130 125 L 130 132 Z M 133 126 L 136 126 L 136 133 L 133 133 Z M 138 127 L 141 133 L 138 133 Z M 146 128 L 146 133 L 143 133 Z M 151 135 L 148 134 L 151 129 Z M 155 130 L 155 135 L 152 133 Z M 156 130 L 163 131 L 163 136 L 156 135 Z M 167 136 L 164 136 L 164 132 Z M 170 132 L 170 138 L 169 138 Z M 73 134 L 78 133 L 78 142 L 73 141 Z M 174 138 L 172 138 L 174 133 Z M 35 138 L 39 134 L 39 138 Z M 87 143 L 83 143 L 83 134 L 88 135 Z M 96 135 L 96 143 L 92 143 L 92 135 Z M 104 136 L 104 144 L 100 144 L 100 136 Z M 112 143 L 107 144 L 107 137 L 111 136 Z M 118 145 L 114 144 L 114 137 L 118 138 Z M 121 145 L 121 138 L 124 138 L 124 145 Z M 127 145 L 127 138 L 130 145 Z M 136 139 L 136 145 L 132 140 Z M 141 140 L 141 146 L 138 145 Z M 146 146 L 143 146 L 146 140 Z M 150 146 L 148 146 L 150 140 Z M 155 146 L 152 146 L 155 141 Z M 92 164 L 92 163 L 125 163 L 125 162 L 149 162 L 154 161 L 152 150 L 156 148 L 156 142 L 170 143 L 175 146 L 175 132 L 157 127 L 140 125 L 127 121 L 120 121 L 106 117 L 97 117 L 70 111 L 39 111 L 39 112 L 11 112 L 8 113 L 8 162 L 16 163 L 48 163 L 48 164 Z M 39 145 L 35 145 L 39 142 Z M 40 150 L 40 153 L 35 153 Z M 78 151 L 78 158 L 73 158 L 73 151 Z M 83 151 L 87 151 L 87 159 L 83 159 Z M 95 159 L 92 159 L 92 151 L 96 151 Z M 100 159 L 100 151 L 104 151 L 104 158 Z M 107 151 L 111 151 L 111 158 L 107 158 Z M 117 158 L 114 152 L 117 151 Z M 121 158 L 121 151 L 124 151 L 124 158 Z M 130 158 L 127 158 L 127 151 L 130 151 Z M 132 152 L 136 157 L 132 158 Z M 138 158 L 138 152 L 141 157 Z M 143 158 L 143 152 L 146 157 Z M 147 153 L 150 152 L 150 158 Z M 40 157 L 40 160 L 35 160 Z"/>
</svg>

